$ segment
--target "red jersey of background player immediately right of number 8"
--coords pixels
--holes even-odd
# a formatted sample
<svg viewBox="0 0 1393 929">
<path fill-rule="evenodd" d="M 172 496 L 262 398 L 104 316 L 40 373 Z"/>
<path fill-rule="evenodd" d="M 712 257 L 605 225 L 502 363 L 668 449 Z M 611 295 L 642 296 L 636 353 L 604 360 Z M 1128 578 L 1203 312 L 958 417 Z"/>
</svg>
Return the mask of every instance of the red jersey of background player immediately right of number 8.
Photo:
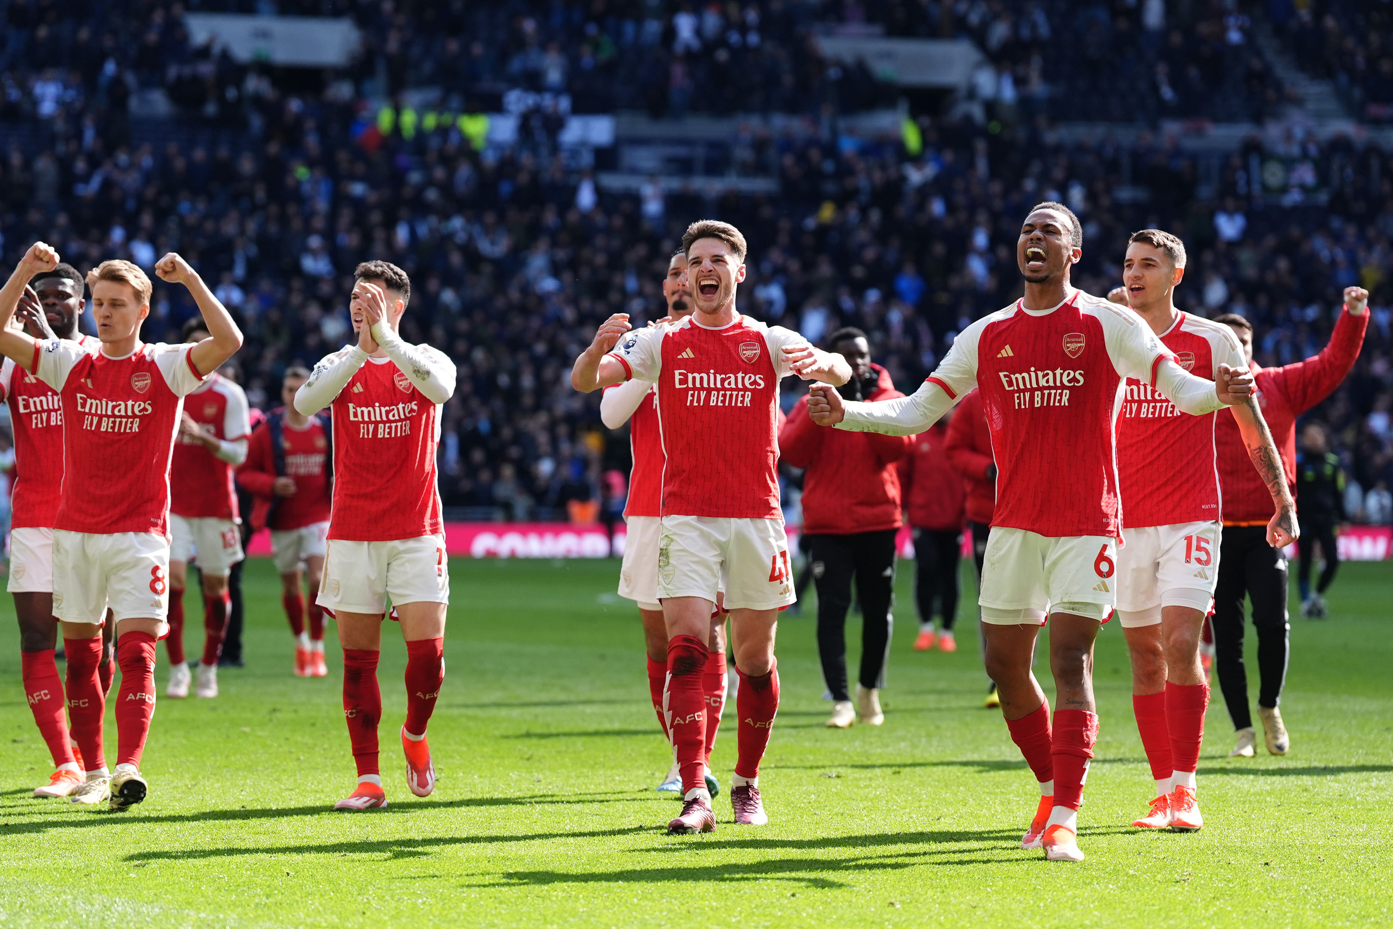
<svg viewBox="0 0 1393 929">
<path fill-rule="evenodd" d="M 216 372 L 184 397 L 184 411 L 201 426 L 212 426 L 224 442 L 245 439 L 251 432 L 247 394 Z M 237 489 L 233 465 L 223 461 L 203 443 L 180 429 L 174 439 L 170 468 L 170 513 L 187 518 L 215 517 L 237 520 Z"/>
</svg>

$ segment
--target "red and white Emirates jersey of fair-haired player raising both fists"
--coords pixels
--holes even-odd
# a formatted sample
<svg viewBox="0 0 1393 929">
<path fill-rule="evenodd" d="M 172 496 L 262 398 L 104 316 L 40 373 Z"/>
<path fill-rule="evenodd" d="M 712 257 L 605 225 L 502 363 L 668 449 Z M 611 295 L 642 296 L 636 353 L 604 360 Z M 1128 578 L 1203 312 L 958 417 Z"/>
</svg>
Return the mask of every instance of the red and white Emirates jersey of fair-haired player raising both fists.
<svg viewBox="0 0 1393 929">
<path fill-rule="evenodd" d="M 33 373 L 63 409 L 63 500 L 54 529 L 169 538 L 170 453 L 184 396 L 202 383 L 192 345 L 145 344 L 123 358 L 50 340 Z"/>
</svg>

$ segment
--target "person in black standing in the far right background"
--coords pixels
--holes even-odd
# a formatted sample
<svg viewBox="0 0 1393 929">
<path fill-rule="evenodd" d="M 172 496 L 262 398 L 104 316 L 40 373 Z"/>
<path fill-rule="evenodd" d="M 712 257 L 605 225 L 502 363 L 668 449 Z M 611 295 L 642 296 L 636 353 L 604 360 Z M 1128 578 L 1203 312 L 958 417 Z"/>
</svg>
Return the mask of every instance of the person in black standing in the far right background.
<svg viewBox="0 0 1393 929">
<path fill-rule="evenodd" d="M 1325 618 L 1325 592 L 1340 567 L 1340 554 L 1334 543 L 1336 526 L 1346 521 L 1344 514 L 1344 467 L 1340 457 L 1330 451 L 1325 440 L 1325 429 L 1319 423 L 1308 423 L 1301 430 L 1301 451 L 1297 454 L 1297 518 L 1304 529 L 1300 542 L 1301 567 L 1297 582 L 1301 585 L 1301 616 L 1308 620 Z M 1321 579 L 1311 592 L 1311 565 L 1315 563 L 1315 546 L 1321 545 Z"/>
</svg>

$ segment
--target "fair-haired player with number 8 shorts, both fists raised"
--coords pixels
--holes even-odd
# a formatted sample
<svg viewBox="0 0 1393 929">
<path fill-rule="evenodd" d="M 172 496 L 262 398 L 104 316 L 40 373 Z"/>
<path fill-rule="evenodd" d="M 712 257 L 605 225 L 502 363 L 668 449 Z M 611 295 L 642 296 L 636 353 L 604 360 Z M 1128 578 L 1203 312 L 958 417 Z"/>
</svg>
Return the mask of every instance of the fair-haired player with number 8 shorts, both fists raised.
<svg viewBox="0 0 1393 929">
<path fill-rule="evenodd" d="M 121 666 L 117 765 L 106 772 L 102 716 L 106 698 L 96 662 L 68 669 L 72 734 L 88 767 L 81 802 L 110 799 L 125 809 L 145 799 L 141 754 L 155 715 L 155 642 L 169 624 L 169 472 L 184 396 L 242 344 L 233 318 L 178 255 L 155 265 L 162 280 L 189 288 L 212 336 L 196 345 L 141 343 L 150 312 L 150 279 L 138 266 L 102 262 L 88 274 L 99 352 L 60 338 L 38 341 L 8 327 L 35 273 L 59 255 L 36 242 L 0 290 L 0 352 L 59 391 L 63 412 L 63 499 L 53 528 L 53 610 L 68 655 L 100 648 L 107 604 Z M 113 479 L 113 469 L 118 469 Z M 68 659 L 72 660 L 71 657 Z"/>
</svg>

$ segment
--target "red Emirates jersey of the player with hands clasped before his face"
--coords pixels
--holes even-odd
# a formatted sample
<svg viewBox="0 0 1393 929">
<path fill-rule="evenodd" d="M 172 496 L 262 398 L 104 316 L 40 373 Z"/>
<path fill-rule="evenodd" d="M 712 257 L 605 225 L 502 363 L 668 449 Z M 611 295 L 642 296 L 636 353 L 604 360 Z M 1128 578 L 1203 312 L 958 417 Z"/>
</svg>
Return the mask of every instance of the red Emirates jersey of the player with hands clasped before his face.
<svg viewBox="0 0 1393 929">
<path fill-rule="evenodd" d="M 390 359 L 369 358 L 330 409 L 334 497 L 329 538 L 390 542 L 442 532 L 440 408 Z"/>
</svg>

